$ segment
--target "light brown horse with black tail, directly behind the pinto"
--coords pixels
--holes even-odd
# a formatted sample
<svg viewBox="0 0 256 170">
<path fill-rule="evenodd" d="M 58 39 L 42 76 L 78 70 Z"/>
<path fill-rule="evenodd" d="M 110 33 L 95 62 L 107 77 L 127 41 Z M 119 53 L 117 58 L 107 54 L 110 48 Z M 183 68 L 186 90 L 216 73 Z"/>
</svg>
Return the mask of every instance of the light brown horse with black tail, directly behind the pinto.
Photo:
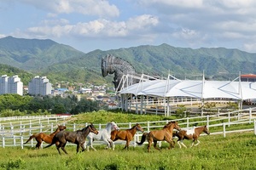
<svg viewBox="0 0 256 170">
<path fill-rule="evenodd" d="M 154 142 L 154 149 L 160 150 L 156 144 L 157 141 L 163 141 L 166 140 L 170 144 L 169 150 L 174 147 L 174 141 L 172 140 L 172 131 L 173 129 L 180 130 L 180 127 L 178 126 L 177 122 L 169 122 L 166 124 L 166 126 L 163 129 L 160 130 L 154 130 L 150 131 L 149 133 L 143 133 L 143 137 L 140 143 L 137 142 L 137 144 L 143 144 L 144 141 L 148 140 L 148 152 L 150 151 L 150 146 L 152 142 Z"/>
</svg>

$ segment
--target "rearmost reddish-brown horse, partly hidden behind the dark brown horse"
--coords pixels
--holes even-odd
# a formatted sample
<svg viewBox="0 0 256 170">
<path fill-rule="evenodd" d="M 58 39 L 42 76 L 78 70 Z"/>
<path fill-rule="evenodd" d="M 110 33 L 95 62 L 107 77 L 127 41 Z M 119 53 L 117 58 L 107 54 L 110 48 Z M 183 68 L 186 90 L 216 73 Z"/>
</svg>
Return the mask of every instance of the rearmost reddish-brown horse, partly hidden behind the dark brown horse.
<svg viewBox="0 0 256 170">
<path fill-rule="evenodd" d="M 56 133 L 61 132 L 62 130 L 65 130 L 66 127 L 63 125 L 57 125 L 58 128 L 56 128 L 54 133 L 50 133 L 50 134 L 45 134 L 45 133 L 34 133 L 32 134 L 29 139 L 26 140 L 26 143 L 28 143 L 29 141 L 31 141 L 33 138 L 35 138 L 38 142 L 38 144 L 36 144 L 36 148 L 40 149 L 41 144 L 44 142 L 46 142 L 47 144 L 51 144 L 52 139 L 54 138 Z"/>
</svg>

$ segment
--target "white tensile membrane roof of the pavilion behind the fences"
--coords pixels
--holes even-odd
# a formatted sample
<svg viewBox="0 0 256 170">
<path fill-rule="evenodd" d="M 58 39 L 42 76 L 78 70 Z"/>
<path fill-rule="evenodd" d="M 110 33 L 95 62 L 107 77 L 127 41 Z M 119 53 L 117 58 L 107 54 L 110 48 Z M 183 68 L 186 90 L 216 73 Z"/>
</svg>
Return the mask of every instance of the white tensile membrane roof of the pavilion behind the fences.
<svg viewBox="0 0 256 170">
<path fill-rule="evenodd" d="M 256 82 L 153 80 L 123 88 L 120 94 L 198 99 L 256 99 Z"/>
</svg>

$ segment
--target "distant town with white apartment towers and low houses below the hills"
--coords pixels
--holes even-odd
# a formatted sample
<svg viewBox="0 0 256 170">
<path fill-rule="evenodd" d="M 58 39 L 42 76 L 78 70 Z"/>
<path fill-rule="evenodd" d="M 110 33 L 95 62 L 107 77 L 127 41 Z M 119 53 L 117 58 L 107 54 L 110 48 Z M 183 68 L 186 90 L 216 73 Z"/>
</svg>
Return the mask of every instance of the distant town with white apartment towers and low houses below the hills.
<svg viewBox="0 0 256 170">
<path fill-rule="evenodd" d="M 61 83 L 57 83 L 55 88 L 52 87 L 52 83 L 49 82 L 47 77 L 33 77 L 28 83 L 28 87 L 23 86 L 20 77 L 17 75 L 8 77 L 3 75 L 0 82 L 0 94 L 20 94 L 31 96 L 61 96 L 66 98 L 68 96 L 76 96 L 78 100 L 81 97 L 90 100 L 98 100 L 108 105 L 108 109 L 118 108 L 118 102 L 114 94 L 114 89 L 108 89 L 106 85 L 95 86 L 88 85 L 83 87 L 80 84 L 80 88 L 73 87 L 61 88 Z"/>
</svg>

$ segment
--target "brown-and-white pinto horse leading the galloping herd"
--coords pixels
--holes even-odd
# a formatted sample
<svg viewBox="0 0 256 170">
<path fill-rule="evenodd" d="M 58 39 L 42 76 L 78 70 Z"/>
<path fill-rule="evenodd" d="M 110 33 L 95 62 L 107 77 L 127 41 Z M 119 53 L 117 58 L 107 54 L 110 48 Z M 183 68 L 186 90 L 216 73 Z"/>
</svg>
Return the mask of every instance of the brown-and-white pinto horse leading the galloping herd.
<svg viewBox="0 0 256 170">
<path fill-rule="evenodd" d="M 207 134 L 210 134 L 207 126 L 201 126 L 201 127 L 195 127 L 195 128 L 192 128 L 192 129 L 189 129 L 189 130 L 180 130 L 180 131 L 177 131 L 176 133 L 173 133 L 173 136 L 177 136 L 177 144 L 179 145 L 179 148 L 182 148 L 181 144 L 187 148 L 187 146 L 185 144 L 183 144 L 183 139 L 193 139 L 193 142 L 191 144 L 190 147 L 192 147 L 194 144 L 195 144 L 195 141 L 197 141 L 197 143 L 195 144 L 198 145 L 200 144 L 200 141 L 198 140 L 200 134 L 204 132 L 204 133 L 207 133 Z M 181 143 L 181 144 L 179 144 Z"/>
</svg>

